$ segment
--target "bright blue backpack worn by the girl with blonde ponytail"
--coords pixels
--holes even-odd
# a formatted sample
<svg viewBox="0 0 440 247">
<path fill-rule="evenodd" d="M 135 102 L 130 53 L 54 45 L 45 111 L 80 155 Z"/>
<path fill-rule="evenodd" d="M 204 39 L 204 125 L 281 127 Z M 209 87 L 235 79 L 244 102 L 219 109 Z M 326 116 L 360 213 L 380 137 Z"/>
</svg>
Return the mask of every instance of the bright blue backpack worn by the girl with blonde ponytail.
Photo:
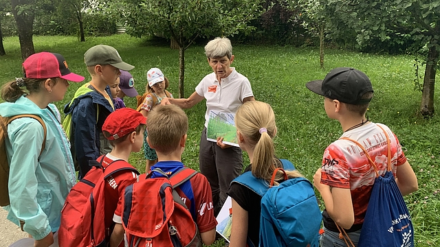
<svg viewBox="0 0 440 247">
<path fill-rule="evenodd" d="M 285 159 L 280 160 L 286 170 L 295 169 Z M 276 172 L 284 169 L 278 168 Z M 270 187 L 261 178 L 245 172 L 232 183 L 239 183 L 261 196 L 260 246 L 318 247 L 322 215 L 313 186 L 306 178 L 290 178 Z M 233 216 L 232 216 L 233 217 Z M 248 238 L 248 246 L 253 246 Z"/>
</svg>

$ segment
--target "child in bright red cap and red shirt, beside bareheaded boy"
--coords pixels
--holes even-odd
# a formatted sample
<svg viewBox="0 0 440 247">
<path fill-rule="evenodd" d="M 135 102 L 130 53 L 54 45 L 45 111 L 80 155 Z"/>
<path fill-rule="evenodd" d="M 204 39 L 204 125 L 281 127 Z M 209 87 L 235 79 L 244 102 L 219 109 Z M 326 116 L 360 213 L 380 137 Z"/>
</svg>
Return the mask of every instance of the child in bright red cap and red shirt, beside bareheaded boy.
<svg viewBox="0 0 440 247">
<path fill-rule="evenodd" d="M 146 118 L 131 108 L 120 108 L 110 113 L 102 125 L 104 137 L 110 141 L 113 150 L 105 156 L 100 156 L 102 166 L 106 167 L 113 161 L 122 159 L 129 161 L 131 152 L 139 152 L 144 143 Z M 134 167 L 133 167 L 134 168 Z M 105 185 L 105 227 L 113 232 L 110 237 L 110 246 L 124 246 L 124 228 L 121 219 L 121 201 L 125 187 L 137 181 L 135 172 L 122 170 L 111 176 Z"/>
</svg>

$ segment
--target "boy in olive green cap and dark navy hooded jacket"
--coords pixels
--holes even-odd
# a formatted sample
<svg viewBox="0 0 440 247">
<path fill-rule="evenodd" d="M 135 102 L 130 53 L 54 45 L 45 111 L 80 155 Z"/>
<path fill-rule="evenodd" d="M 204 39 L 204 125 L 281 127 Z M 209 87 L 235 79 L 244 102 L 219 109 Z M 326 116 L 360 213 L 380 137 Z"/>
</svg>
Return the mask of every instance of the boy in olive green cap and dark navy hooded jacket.
<svg viewBox="0 0 440 247">
<path fill-rule="evenodd" d="M 122 61 L 118 51 L 109 45 L 91 47 L 85 52 L 84 60 L 91 81 L 81 86 L 72 101 L 66 104 L 63 122 L 72 143 L 79 178 L 89 172 L 89 161 L 111 151 L 109 141 L 102 135 L 102 124 L 115 109 L 109 87 L 118 83 L 120 69 L 130 71 L 134 68 Z"/>
</svg>

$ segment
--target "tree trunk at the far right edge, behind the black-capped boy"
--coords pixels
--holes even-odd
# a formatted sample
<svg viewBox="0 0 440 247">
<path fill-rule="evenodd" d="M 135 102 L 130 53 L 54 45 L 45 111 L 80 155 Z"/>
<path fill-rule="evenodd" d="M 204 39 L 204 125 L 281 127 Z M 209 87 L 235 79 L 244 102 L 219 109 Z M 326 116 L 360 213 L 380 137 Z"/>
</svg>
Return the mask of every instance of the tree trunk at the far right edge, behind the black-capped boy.
<svg viewBox="0 0 440 247">
<path fill-rule="evenodd" d="M 434 115 L 435 73 L 437 71 L 437 62 L 439 62 L 439 51 L 437 51 L 437 46 L 437 40 L 430 41 L 420 105 L 420 113 L 424 117 L 432 117 L 432 115 Z"/>
</svg>

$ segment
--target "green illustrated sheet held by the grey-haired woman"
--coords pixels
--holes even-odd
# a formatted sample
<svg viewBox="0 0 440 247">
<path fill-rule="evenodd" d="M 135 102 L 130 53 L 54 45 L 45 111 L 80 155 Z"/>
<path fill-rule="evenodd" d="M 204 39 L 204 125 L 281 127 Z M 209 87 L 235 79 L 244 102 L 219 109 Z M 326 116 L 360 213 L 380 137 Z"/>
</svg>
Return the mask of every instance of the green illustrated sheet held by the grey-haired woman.
<svg viewBox="0 0 440 247">
<path fill-rule="evenodd" d="M 221 113 L 210 110 L 206 139 L 217 141 L 217 137 L 223 137 L 223 143 L 239 146 L 236 139 L 236 128 L 233 113 Z"/>
</svg>

